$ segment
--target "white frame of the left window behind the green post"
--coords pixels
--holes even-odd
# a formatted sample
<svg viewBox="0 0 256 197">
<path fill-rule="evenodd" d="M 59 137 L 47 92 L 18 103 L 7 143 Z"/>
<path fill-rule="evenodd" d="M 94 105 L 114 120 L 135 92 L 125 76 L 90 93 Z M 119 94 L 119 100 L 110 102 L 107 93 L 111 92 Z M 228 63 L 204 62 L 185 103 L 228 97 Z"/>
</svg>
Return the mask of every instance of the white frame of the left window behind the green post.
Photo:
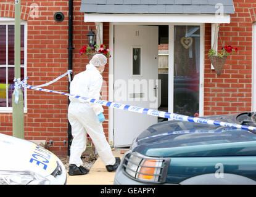
<svg viewBox="0 0 256 197">
<path fill-rule="evenodd" d="M 14 18 L 4 18 L 0 17 L 0 25 L 14 25 Z M 20 65 L 20 67 L 24 68 L 24 77 L 27 76 L 27 41 L 28 41 L 28 27 L 27 22 L 21 20 L 20 25 L 24 25 L 24 65 Z M 8 38 L 6 38 L 6 44 L 8 43 Z M 8 52 L 6 52 L 8 55 Z M 8 66 L 8 62 L 6 65 L 0 65 L 0 67 Z M 14 67 L 14 65 L 10 65 L 9 67 Z M 7 73 L 6 73 L 7 76 Z M 0 113 L 12 113 L 12 107 L 0 107 Z M 24 113 L 27 113 L 27 88 L 24 88 Z"/>
</svg>

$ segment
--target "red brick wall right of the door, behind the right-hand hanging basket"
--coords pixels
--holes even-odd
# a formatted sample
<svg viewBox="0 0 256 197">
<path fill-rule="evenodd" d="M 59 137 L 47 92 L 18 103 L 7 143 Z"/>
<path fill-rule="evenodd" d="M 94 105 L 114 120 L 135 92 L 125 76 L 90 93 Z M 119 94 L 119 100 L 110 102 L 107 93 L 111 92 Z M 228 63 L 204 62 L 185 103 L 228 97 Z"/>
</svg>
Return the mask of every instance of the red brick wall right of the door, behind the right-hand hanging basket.
<svg viewBox="0 0 256 197">
<path fill-rule="evenodd" d="M 234 0 L 234 7 L 231 23 L 220 25 L 220 37 L 223 46 L 236 46 L 239 50 L 229 55 L 220 76 L 211 70 L 207 57 L 211 44 L 211 26 L 205 24 L 204 115 L 251 110 L 252 18 L 249 10 L 256 7 L 256 2 Z M 220 38 L 218 46 L 221 49 Z"/>
</svg>

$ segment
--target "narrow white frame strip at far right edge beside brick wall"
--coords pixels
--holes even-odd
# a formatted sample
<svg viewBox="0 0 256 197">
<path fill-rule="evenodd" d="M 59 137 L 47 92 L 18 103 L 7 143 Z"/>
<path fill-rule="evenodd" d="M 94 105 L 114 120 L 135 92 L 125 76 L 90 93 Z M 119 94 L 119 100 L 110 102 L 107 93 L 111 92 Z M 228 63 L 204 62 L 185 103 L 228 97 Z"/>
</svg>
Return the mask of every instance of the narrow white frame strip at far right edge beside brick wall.
<svg viewBox="0 0 256 197">
<path fill-rule="evenodd" d="M 256 111 L 256 23 L 252 24 L 252 111 Z"/>
</svg>

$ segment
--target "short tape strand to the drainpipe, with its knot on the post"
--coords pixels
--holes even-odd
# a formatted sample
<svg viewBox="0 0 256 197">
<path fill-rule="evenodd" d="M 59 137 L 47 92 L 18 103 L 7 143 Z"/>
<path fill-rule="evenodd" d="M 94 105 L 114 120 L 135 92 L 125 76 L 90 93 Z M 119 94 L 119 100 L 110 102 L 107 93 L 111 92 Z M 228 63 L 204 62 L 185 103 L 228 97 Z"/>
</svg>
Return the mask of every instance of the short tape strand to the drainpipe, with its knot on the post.
<svg viewBox="0 0 256 197">
<path fill-rule="evenodd" d="M 58 81 L 59 79 L 63 78 L 64 76 L 66 76 L 68 74 L 68 81 L 71 82 L 71 75 L 72 74 L 72 70 L 68 70 L 66 73 L 58 76 L 56 79 L 52 80 L 52 81 L 49 81 L 49 82 L 46 82 L 45 84 L 41 84 L 41 85 L 38 85 L 38 86 L 35 86 L 35 87 L 45 87 L 45 86 L 49 86 L 50 84 Z M 19 79 L 14 79 L 14 94 L 15 94 L 15 103 L 17 104 L 18 101 L 19 101 L 19 92 L 18 92 L 18 89 L 20 89 L 21 86 L 23 86 L 23 84 L 26 84 L 27 82 L 27 79 L 28 79 L 28 76 L 26 76 L 22 81 L 20 81 L 20 78 Z"/>
</svg>

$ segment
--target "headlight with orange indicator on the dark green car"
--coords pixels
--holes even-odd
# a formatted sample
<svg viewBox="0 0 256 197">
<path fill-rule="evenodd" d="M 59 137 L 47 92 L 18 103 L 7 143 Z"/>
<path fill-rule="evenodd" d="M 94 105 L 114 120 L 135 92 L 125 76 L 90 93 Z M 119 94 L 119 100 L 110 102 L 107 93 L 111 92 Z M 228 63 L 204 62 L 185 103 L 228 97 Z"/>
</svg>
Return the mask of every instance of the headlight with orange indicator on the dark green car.
<svg viewBox="0 0 256 197">
<path fill-rule="evenodd" d="M 142 182 L 165 182 L 170 158 L 151 158 L 136 152 L 125 156 L 123 169 L 133 179 Z"/>
</svg>

